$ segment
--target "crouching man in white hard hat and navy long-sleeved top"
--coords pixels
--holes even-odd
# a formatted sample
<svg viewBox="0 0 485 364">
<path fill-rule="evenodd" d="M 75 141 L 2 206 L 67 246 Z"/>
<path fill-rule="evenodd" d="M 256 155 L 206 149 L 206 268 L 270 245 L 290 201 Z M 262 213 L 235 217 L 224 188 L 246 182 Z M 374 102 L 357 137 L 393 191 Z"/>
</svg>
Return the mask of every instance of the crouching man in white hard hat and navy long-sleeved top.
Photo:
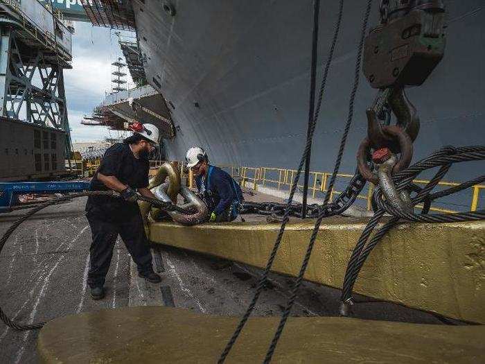
<svg viewBox="0 0 485 364">
<path fill-rule="evenodd" d="M 233 221 L 243 207 L 243 192 L 239 184 L 226 171 L 211 166 L 204 149 L 193 147 L 187 150 L 186 161 L 195 175 L 195 183 L 204 202 L 211 211 L 211 222 Z"/>
</svg>

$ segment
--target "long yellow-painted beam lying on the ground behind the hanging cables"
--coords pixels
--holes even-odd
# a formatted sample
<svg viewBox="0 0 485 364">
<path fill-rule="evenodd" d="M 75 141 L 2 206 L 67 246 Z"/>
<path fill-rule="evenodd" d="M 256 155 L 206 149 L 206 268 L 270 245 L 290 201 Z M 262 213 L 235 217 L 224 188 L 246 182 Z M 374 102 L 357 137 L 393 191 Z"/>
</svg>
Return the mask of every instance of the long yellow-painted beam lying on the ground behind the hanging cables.
<svg viewBox="0 0 485 364">
<path fill-rule="evenodd" d="M 342 288 L 366 220 L 328 218 L 320 227 L 305 279 Z M 297 275 L 314 222 L 290 223 L 273 269 Z M 278 224 L 224 223 L 184 227 L 151 223 L 150 240 L 264 267 Z M 403 224 L 367 259 L 355 292 L 450 318 L 485 323 L 485 221 Z"/>
</svg>

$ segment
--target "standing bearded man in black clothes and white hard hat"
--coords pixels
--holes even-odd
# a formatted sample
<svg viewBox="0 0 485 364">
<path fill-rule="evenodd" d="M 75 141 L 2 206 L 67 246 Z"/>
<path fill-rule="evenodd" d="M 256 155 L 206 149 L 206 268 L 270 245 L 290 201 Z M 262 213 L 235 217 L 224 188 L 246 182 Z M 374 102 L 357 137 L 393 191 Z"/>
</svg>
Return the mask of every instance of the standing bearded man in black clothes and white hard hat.
<svg viewBox="0 0 485 364">
<path fill-rule="evenodd" d="M 131 137 L 106 150 L 91 180 L 91 191 L 121 193 L 121 198 L 89 196 L 87 199 L 86 216 L 93 238 L 87 283 L 94 300 L 105 296 L 103 286 L 118 234 L 136 263 L 139 276 L 151 283 L 161 281 L 152 268 L 152 254 L 135 192 L 155 198 L 148 189 L 148 156 L 158 144 L 159 130 L 155 125 L 141 123 L 134 123 L 131 128 L 134 130 Z"/>
</svg>

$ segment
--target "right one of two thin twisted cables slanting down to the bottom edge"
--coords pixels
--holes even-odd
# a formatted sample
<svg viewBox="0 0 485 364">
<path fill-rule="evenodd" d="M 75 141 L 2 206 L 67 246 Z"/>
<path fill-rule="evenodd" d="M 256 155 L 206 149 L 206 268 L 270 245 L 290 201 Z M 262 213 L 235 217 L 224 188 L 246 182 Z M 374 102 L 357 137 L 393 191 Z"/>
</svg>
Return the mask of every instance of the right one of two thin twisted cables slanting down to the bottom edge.
<svg viewBox="0 0 485 364">
<path fill-rule="evenodd" d="M 279 338 L 281 337 L 281 333 L 283 333 L 283 329 L 285 327 L 286 321 L 288 320 L 288 317 L 290 316 L 294 301 L 297 299 L 298 290 L 299 290 L 299 287 L 301 286 L 301 282 L 303 281 L 303 275 L 305 275 L 306 268 L 308 266 L 308 261 L 310 261 L 313 246 L 315 245 L 315 240 L 317 239 L 317 234 L 319 232 L 321 221 L 324 219 L 324 217 L 326 217 L 325 215 L 326 205 L 328 205 L 328 200 L 330 200 L 330 193 L 333 190 L 333 186 L 337 178 L 337 173 L 340 169 L 340 163 L 342 161 L 342 155 L 344 155 L 344 148 L 346 145 L 347 136 L 349 135 L 349 130 L 352 124 L 355 94 L 357 94 L 357 89 L 359 87 L 359 80 L 360 80 L 360 63 L 362 60 L 362 50 L 364 49 L 364 39 L 367 31 L 367 23 L 369 21 L 369 15 L 371 13 L 371 5 L 372 5 L 372 0 L 368 0 L 367 6 L 364 12 L 364 19 L 362 19 L 362 28 L 360 31 L 360 42 L 358 46 L 357 59 L 355 61 L 355 75 L 354 75 L 351 96 L 349 100 L 349 114 L 347 116 L 344 134 L 342 135 L 342 140 L 340 141 L 340 148 L 337 154 L 337 159 L 335 161 L 332 177 L 330 178 L 328 190 L 325 195 L 324 205 L 320 211 L 317 222 L 315 223 L 315 227 L 313 228 L 312 236 L 310 237 L 310 242 L 308 243 L 308 248 L 306 250 L 305 258 L 301 263 L 301 268 L 300 268 L 297 280 L 294 282 L 294 286 L 292 288 L 292 294 L 285 307 L 285 311 L 283 311 L 283 315 L 281 315 L 281 320 L 279 322 L 278 329 L 276 329 L 276 332 L 274 333 L 274 337 L 272 339 L 270 347 L 267 350 L 264 363 L 270 363 L 271 358 L 274 354 L 274 350 L 276 349 L 276 345 L 278 344 Z M 342 2 L 341 2 L 341 6 L 342 6 Z M 342 12 L 342 8 L 340 8 L 340 11 Z"/>
</svg>

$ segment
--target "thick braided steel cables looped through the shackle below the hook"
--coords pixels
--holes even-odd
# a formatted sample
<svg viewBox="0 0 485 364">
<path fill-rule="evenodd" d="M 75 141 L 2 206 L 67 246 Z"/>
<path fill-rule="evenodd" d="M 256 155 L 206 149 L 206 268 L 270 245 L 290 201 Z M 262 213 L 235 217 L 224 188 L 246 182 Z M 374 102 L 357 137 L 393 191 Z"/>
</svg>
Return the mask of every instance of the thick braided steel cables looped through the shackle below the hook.
<svg viewBox="0 0 485 364">
<path fill-rule="evenodd" d="M 400 191 L 405 189 L 409 181 L 413 180 L 416 175 L 425 171 L 429 168 L 434 168 L 437 166 L 441 166 L 439 171 L 436 172 L 432 180 L 428 182 L 428 184 L 418 191 L 416 196 L 412 198 L 412 205 L 416 205 L 418 202 L 426 200 L 428 202 L 435 200 L 436 198 L 441 198 L 444 196 L 449 196 L 452 193 L 456 193 L 467 189 L 469 187 L 474 186 L 475 184 L 479 184 L 485 182 L 485 175 L 480 175 L 475 177 L 473 180 L 469 180 L 459 184 L 458 186 L 451 187 L 449 189 L 445 189 L 443 191 L 439 191 L 436 193 L 430 193 L 436 184 L 440 182 L 450 166 L 453 163 L 458 162 L 470 162 L 476 160 L 484 160 L 485 159 L 485 146 L 465 146 L 459 148 L 452 148 L 446 147 L 443 148 L 436 153 L 430 155 L 425 159 L 422 159 L 416 164 L 409 166 L 409 168 L 396 173 L 393 177 L 393 180 L 396 182 L 396 187 Z M 342 302 L 349 304 L 351 302 L 352 297 L 352 290 L 355 284 L 355 281 L 358 278 L 358 274 L 364 265 L 367 257 L 376 247 L 376 245 L 380 242 L 383 236 L 394 227 L 398 221 L 403 218 L 405 220 L 410 221 L 418 221 L 423 223 L 450 223 L 450 222 L 461 222 L 461 221 L 473 221 L 473 220 L 483 220 L 485 218 L 485 210 L 478 210 L 478 211 L 468 211 L 468 212 L 459 212 L 457 214 L 427 214 L 427 211 L 422 211 L 421 214 L 410 214 L 404 211 L 400 211 L 395 209 L 387 202 L 382 200 L 382 190 L 380 187 L 376 187 L 376 190 L 373 193 L 373 200 L 376 201 L 376 205 L 378 205 L 379 209 L 374 214 L 373 218 L 369 220 L 369 223 L 364 228 L 364 232 L 360 236 L 358 243 L 355 245 L 353 253 L 351 255 L 351 259 L 347 265 L 346 274 L 344 277 L 344 284 L 342 289 Z M 389 220 L 385 225 L 383 225 L 380 229 L 377 230 L 376 234 L 372 236 L 372 239 L 368 242 L 369 236 L 373 229 L 378 224 L 382 215 L 387 212 L 391 214 L 393 217 Z"/>
</svg>

